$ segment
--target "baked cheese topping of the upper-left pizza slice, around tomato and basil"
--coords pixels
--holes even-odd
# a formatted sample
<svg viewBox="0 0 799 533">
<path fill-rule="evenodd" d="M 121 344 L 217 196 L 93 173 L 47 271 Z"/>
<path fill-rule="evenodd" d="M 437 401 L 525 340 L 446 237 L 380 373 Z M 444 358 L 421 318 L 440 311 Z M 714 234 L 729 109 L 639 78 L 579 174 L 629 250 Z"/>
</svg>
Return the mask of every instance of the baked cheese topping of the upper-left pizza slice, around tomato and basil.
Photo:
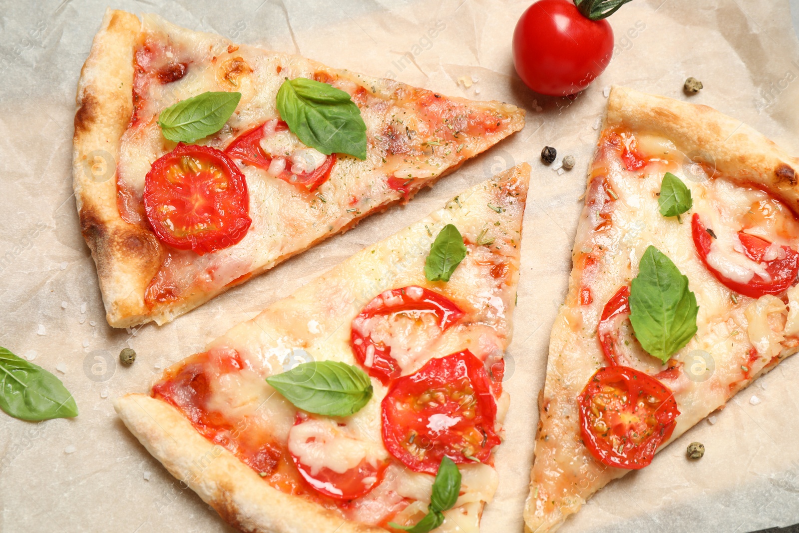
<svg viewBox="0 0 799 533">
<path fill-rule="evenodd" d="M 425 89 L 348 71 L 308 59 L 236 46 L 221 36 L 144 18 L 136 54 L 134 114 L 121 140 L 117 165 L 121 216 L 145 225 L 141 195 L 150 165 L 174 148 L 157 125 L 159 113 L 207 91 L 237 91 L 237 110 L 219 133 L 198 141 L 224 150 L 242 133 L 262 127 L 260 148 L 272 157 L 267 169 L 240 164 L 249 193 L 252 225 L 237 244 L 201 259 L 169 249 L 145 295 L 171 320 L 181 300 L 205 300 L 297 253 L 353 221 L 403 199 L 428 181 L 521 127 L 517 110 L 499 104 L 467 104 Z M 329 179 L 308 192 L 282 173 L 310 173 L 328 156 L 281 129 L 276 93 L 285 78 L 310 78 L 352 96 L 367 126 L 365 161 L 337 154 Z M 516 114 L 514 114 L 516 113 Z"/>
</svg>

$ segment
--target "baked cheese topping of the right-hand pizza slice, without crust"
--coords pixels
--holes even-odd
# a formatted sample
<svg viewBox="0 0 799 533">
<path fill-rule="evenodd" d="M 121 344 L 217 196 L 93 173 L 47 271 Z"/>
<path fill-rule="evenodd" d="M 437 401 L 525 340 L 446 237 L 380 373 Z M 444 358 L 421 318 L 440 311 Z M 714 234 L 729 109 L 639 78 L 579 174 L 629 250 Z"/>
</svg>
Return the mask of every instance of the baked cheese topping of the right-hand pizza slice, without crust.
<svg viewBox="0 0 799 533">
<path fill-rule="evenodd" d="M 680 220 L 660 214 L 658 194 L 666 172 L 680 178 L 693 199 Z M 709 230 L 707 265 L 694 243 L 694 216 Z M 746 236 L 771 244 L 756 257 L 742 244 Z M 598 329 L 606 303 L 629 287 L 650 245 L 687 276 L 698 303 L 697 334 L 666 364 L 641 348 L 626 314 Z M 797 351 L 796 287 L 755 299 L 725 284 L 769 284 L 769 262 L 785 258 L 783 247 L 799 249 L 799 222 L 776 197 L 695 163 L 657 133 L 603 131 L 574 243 L 570 294 L 551 336 L 528 527 L 554 527 L 596 487 L 626 473 L 598 463 L 582 440 L 574 440 L 581 431 L 577 397 L 594 372 L 608 364 L 598 336 L 618 332 L 626 358 L 622 364 L 656 377 L 674 392 L 680 414 L 671 438 L 660 447 Z"/>
</svg>

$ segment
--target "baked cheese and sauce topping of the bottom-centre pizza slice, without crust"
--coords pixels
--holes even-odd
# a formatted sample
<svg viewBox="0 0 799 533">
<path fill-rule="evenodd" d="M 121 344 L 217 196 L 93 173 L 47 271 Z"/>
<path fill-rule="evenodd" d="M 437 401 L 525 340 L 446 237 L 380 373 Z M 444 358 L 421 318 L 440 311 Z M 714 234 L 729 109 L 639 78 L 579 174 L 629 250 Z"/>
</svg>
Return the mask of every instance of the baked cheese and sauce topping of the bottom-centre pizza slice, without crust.
<svg viewBox="0 0 799 533">
<path fill-rule="evenodd" d="M 353 331 L 364 328 L 372 338 L 379 336 L 392 347 L 392 355 L 406 360 L 402 376 L 415 374 L 430 360 L 469 350 L 495 381 L 490 394 L 496 404 L 495 431 L 501 432 L 508 396 L 501 391 L 501 373 L 491 372 L 502 368 L 511 336 L 527 193 L 527 180 L 518 172 L 476 186 L 446 209 L 272 304 L 214 341 L 207 352 L 169 368 L 153 396 L 177 407 L 206 438 L 233 451 L 272 487 L 346 519 L 383 527 L 392 520 L 415 523 L 427 511 L 434 476 L 413 471 L 388 453 L 381 435 L 388 389 L 380 380 L 372 379 L 372 400 L 364 408 L 337 419 L 298 411 L 264 378 L 308 360 L 358 365 L 350 324 Z M 435 235 L 447 224 L 463 232 L 469 253 L 447 283 L 431 283 L 424 277 L 424 262 Z M 485 244 L 489 239 L 490 246 Z M 423 300 L 427 290 L 450 300 L 463 315 L 444 331 L 426 312 L 389 313 L 374 323 L 353 321 L 370 300 L 396 308 L 402 302 L 393 289 L 401 287 L 411 302 Z M 417 344 L 426 348 L 419 350 Z M 431 435 L 444 435 L 461 422 L 456 419 L 438 413 L 423 423 Z M 463 459 L 459 471 L 458 501 L 436 531 L 477 533 L 483 504 L 498 483 L 493 459 Z M 350 491 L 356 485 L 368 491 L 350 500 L 329 497 L 344 480 Z"/>
</svg>

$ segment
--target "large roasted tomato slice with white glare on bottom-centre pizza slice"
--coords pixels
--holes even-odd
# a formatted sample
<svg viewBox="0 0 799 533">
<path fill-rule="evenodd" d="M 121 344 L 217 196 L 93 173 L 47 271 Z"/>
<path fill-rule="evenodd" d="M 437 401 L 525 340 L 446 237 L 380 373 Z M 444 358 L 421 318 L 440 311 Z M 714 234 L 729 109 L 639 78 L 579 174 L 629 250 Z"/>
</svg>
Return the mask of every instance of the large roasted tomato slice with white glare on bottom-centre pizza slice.
<svg viewBox="0 0 799 533">
<path fill-rule="evenodd" d="M 444 455 L 485 462 L 499 444 L 496 403 L 483 362 L 468 350 L 397 378 L 383 399 L 383 444 L 406 467 L 435 474 Z"/>
</svg>

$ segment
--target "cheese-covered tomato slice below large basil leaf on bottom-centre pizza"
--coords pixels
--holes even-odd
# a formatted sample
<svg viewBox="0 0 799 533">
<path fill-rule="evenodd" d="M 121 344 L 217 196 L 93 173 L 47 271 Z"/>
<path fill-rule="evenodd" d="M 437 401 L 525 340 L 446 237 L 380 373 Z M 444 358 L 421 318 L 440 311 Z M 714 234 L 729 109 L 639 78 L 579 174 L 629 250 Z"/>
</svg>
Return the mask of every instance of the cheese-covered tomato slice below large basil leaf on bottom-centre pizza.
<svg viewBox="0 0 799 533">
<path fill-rule="evenodd" d="M 316 491 L 334 499 L 360 498 L 380 484 L 388 461 L 368 457 L 364 448 L 370 443 L 348 439 L 338 425 L 334 420 L 298 415 L 288 433 L 288 451 L 300 475 Z M 306 464 L 324 456 L 335 457 L 340 467 L 333 470 L 320 464 Z M 361 456 L 363 459 L 351 464 L 353 458 L 357 461 Z"/>
</svg>

